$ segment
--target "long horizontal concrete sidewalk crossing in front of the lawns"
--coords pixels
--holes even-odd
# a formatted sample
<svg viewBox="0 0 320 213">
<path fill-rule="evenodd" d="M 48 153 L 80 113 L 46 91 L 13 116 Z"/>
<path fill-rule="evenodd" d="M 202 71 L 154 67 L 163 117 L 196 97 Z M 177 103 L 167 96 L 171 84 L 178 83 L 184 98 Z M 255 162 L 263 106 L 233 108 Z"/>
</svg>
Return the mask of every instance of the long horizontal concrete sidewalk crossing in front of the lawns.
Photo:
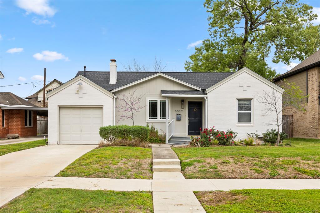
<svg viewBox="0 0 320 213">
<path fill-rule="evenodd" d="M 155 172 L 175 173 L 175 172 Z M 181 174 L 180 172 L 177 172 Z M 232 189 L 320 189 L 320 179 L 109 179 L 87 177 L 52 177 L 36 188 L 73 188 L 115 191 L 192 192 L 229 191 Z M 168 176 L 163 174 L 164 176 Z M 182 175 L 182 174 L 181 174 Z"/>
</svg>

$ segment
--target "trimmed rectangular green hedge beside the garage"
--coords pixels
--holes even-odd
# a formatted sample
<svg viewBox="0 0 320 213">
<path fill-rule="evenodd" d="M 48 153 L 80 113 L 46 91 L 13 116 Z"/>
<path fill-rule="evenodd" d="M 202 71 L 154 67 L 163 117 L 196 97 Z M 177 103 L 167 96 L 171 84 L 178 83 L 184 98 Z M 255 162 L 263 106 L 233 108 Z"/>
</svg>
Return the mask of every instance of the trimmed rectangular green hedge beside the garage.
<svg viewBox="0 0 320 213">
<path fill-rule="evenodd" d="M 145 126 L 103 126 L 99 129 L 100 137 L 112 143 L 117 139 L 148 141 L 149 128 Z"/>
</svg>

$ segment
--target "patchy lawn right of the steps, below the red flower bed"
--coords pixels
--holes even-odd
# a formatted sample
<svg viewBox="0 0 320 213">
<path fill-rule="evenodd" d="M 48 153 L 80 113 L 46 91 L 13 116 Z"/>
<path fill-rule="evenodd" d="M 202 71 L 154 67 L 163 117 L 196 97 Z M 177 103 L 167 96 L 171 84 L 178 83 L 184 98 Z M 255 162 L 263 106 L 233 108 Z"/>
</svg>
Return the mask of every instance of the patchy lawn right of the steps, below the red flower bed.
<svg viewBox="0 0 320 213">
<path fill-rule="evenodd" d="M 189 179 L 320 178 L 320 140 L 291 138 L 292 146 L 173 148 Z"/>
</svg>

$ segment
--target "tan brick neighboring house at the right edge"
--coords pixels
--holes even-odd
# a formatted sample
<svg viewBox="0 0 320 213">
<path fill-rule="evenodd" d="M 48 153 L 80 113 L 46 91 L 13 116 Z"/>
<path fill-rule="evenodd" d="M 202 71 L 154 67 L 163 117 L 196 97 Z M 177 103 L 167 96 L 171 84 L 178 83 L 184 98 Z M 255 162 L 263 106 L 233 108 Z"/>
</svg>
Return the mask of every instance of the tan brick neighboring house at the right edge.
<svg viewBox="0 0 320 213">
<path fill-rule="evenodd" d="M 309 95 L 308 99 L 302 100 L 306 104 L 305 112 L 292 107 L 282 112 L 283 116 L 292 117 L 292 137 L 320 138 L 320 50 L 274 81 L 279 83 L 281 79 L 294 82 L 303 95 Z"/>
</svg>

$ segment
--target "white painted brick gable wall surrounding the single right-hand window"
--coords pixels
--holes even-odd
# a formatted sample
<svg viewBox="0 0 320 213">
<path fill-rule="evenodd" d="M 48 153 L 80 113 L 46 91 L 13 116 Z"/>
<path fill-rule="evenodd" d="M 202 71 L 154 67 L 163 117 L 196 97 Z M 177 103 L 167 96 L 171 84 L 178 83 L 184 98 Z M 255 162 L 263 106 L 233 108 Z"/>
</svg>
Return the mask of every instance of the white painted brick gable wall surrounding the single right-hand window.
<svg viewBox="0 0 320 213">
<path fill-rule="evenodd" d="M 250 87 L 243 90 L 240 83 Z M 266 115 L 263 111 L 264 104 L 254 99 L 258 93 L 272 90 L 274 89 L 269 85 L 246 72 L 237 75 L 208 93 L 208 127 L 215 126 L 216 130 L 236 131 L 237 138 L 243 139 L 246 138 L 246 133 L 257 133 L 261 136 L 267 129 L 276 129 L 276 125 L 266 125 L 276 118 L 276 113 Z M 281 96 L 280 92 L 279 95 Z M 252 124 L 237 123 L 237 99 L 252 99 Z M 281 113 L 279 117 L 282 117 Z"/>
</svg>

